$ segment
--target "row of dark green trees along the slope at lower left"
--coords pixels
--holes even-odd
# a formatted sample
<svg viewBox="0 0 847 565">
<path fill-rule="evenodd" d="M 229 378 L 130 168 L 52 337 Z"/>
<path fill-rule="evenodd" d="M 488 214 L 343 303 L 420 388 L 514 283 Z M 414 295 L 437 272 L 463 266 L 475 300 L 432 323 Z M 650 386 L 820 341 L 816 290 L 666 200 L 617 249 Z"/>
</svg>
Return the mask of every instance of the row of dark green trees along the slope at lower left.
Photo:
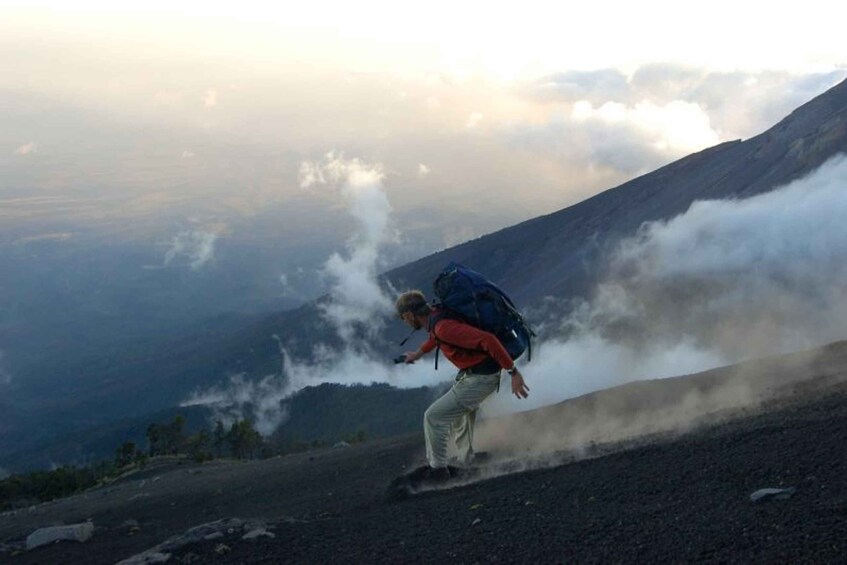
<svg viewBox="0 0 847 565">
<path fill-rule="evenodd" d="M 113 458 L 94 465 L 66 465 L 52 471 L 13 474 L 0 480 L 0 511 L 69 496 L 110 482 L 132 469 L 143 468 L 151 458 L 182 457 L 198 463 L 222 458 L 266 459 L 330 445 L 324 441 L 296 441 L 279 434 L 264 438 L 247 419 L 236 420 L 229 427 L 218 420 L 211 432 L 203 429 L 194 434 L 185 432 L 185 423 L 185 418 L 177 415 L 169 422 L 150 424 L 146 430 L 146 449 L 127 441 L 115 449 Z M 365 432 L 359 430 L 344 441 L 358 443 L 365 439 Z"/>
</svg>

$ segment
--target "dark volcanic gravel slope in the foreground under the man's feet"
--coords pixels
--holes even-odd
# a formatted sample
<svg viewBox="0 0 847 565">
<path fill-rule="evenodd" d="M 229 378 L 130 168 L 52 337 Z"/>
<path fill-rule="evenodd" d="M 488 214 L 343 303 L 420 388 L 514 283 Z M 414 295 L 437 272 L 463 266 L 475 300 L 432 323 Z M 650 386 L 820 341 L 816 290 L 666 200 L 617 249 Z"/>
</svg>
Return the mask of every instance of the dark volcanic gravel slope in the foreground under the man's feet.
<svg viewBox="0 0 847 565">
<path fill-rule="evenodd" d="M 847 385 L 832 375 L 811 382 L 679 437 L 601 446 L 595 452 L 607 454 L 399 502 L 383 500 L 383 490 L 420 462 L 417 436 L 177 466 L 155 483 L 127 479 L 0 516 L 6 542 L 58 521 L 98 526 L 85 544 L 0 560 L 113 563 L 192 526 L 239 517 L 264 520 L 275 537 L 247 541 L 234 531 L 184 546 L 169 562 L 843 563 Z M 751 502 L 765 487 L 797 492 Z M 129 519 L 139 523 L 133 535 L 122 526 Z"/>
</svg>

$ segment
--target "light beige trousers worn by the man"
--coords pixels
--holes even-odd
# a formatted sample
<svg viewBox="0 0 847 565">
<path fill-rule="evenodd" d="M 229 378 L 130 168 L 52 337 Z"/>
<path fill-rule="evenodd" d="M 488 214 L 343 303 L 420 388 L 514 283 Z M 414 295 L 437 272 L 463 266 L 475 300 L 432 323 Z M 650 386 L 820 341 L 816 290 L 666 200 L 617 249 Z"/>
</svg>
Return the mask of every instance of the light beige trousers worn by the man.
<svg viewBox="0 0 847 565">
<path fill-rule="evenodd" d="M 490 375 L 459 373 L 456 383 L 424 412 L 426 458 L 430 467 L 446 467 L 451 435 L 460 465 L 473 460 L 476 410 L 500 386 L 500 372 Z"/>
</svg>

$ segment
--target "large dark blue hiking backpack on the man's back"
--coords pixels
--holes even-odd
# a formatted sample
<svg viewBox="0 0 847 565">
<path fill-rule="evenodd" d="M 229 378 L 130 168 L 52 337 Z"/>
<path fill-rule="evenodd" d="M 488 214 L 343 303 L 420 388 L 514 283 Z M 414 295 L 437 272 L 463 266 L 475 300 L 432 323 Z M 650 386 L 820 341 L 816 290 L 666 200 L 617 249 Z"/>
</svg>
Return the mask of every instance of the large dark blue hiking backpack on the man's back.
<svg viewBox="0 0 847 565">
<path fill-rule="evenodd" d="M 512 359 L 527 352 L 532 359 L 535 332 L 515 308 L 512 299 L 483 275 L 459 263 L 450 262 L 433 283 L 435 306 L 442 318 L 453 318 L 497 336 Z M 436 351 L 435 368 L 438 368 Z"/>
</svg>

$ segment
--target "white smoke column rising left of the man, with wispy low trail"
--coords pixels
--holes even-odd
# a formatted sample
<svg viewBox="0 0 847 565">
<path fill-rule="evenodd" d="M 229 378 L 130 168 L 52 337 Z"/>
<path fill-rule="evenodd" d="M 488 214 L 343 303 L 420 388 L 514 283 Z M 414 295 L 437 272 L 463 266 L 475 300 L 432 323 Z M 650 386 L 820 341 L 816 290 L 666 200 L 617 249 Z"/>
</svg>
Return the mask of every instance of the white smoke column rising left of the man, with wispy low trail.
<svg viewBox="0 0 847 565">
<path fill-rule="evenodd" d="M 380 252 L 397 237 L 391 227 L 391 205 L 383 178 L 381 165 L 334 153 L 327 153 L 319 162 L 303 162 L 300 167 L 301 187 L 336 190 L 357 220 L 358 229 L 348 240 L 346 253 L 333 253 L 323 268 L 323 275 L 331 284 L 328 300 L 320 305 L 321 315 L 335 329 L 343 347 L 332 349 L 318 344 L 310 362 L 298 362 L 274 335 L 280 349 L 280 374 L 268 375 L 259 382 L 234 376 L 227 386 L 198 392 L 185 405 L 209 406 L 215 417 L 225 422 L 250 414 L 256 429 L 267 435 L 287 419 L 285 399 L 307 386 L 390 383 L 419 387 L 435 384 L 439 377 L 449 378 L 446 374 L 433 375 L 431 367 L 423 365 L 388 366 L 384 354 L 370 351 L 367 340 L 355 338 L 357 331 L 378 333 L 393 311 L 392 298 L 377 280 L 382 266 Z"/>
</svg>

